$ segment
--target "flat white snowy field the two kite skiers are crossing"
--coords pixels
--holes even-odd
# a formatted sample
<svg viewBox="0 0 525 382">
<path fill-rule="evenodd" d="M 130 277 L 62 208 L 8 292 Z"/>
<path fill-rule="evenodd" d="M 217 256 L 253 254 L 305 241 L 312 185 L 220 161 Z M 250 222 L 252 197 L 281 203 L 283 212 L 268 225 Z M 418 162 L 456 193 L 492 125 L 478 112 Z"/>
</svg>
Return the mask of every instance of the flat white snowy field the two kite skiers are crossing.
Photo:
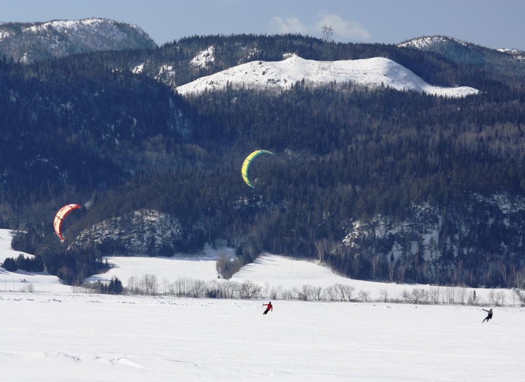
<svg viewBox="0 0 525 382">
<path fill-rule="evenodd" d="M 517 381 L 525 310 L 0 292 L 0 380 Z"/>
</svg>

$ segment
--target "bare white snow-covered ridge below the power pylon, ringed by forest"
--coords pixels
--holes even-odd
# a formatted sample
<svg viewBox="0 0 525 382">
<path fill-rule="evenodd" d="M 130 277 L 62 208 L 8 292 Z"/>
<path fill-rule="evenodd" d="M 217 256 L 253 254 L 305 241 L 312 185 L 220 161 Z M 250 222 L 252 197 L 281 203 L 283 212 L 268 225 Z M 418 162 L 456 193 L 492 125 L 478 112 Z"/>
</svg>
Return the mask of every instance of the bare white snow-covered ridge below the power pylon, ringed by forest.
<svg viewBox="0 0 525 382">
<path fill-rule="evenodd" d="M 228 84 L 236 88 L 287 89 L 296 82 L 311 85 L 337 83 L 345 85 L 390 86 L 397 90 L 414 90 L 428 94 L 460 97 L 476 94 L 468 86 L 443 88 L 433 86 L 412 71 L 387 58 L 363 60 L 316 61 L 295 54 L 282 61 L 251 61 L 178 86 L 180 94 L 224 89 Z"/>
</svg>

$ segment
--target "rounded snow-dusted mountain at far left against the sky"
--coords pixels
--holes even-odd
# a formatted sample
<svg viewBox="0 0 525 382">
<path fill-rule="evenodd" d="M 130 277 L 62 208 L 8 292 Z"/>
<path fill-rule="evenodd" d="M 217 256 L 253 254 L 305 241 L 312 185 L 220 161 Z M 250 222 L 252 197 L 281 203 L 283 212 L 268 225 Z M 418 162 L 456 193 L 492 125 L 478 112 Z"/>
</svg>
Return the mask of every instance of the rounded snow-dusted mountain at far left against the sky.
<svg viewBox="0 0 525 382">
<path fill-rule="evenodd" d="M 99 50 L 154 48 L 137 25 L 103 18 L 1 23 L 0 56 L 23 62 Z"/>
</svg>

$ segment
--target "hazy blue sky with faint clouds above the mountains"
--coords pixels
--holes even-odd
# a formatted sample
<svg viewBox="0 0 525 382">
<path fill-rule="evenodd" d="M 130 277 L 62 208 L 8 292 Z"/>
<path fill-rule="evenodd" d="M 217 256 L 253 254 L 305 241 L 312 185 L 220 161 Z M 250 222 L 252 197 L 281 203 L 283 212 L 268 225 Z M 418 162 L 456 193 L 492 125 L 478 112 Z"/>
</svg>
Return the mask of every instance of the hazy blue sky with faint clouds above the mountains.
<svg viewBox="0 0 525 382">
<path fill-rule="evenodd" d="M 302 32 L 324 23 L 339 41 L 401 42 L 447 35 L 491 48 L 525 50 L 522 0 L 18 0 L 1 21 L 106 17 L 138 24 L 159 44 L 190 35 Z"/>
</svg>

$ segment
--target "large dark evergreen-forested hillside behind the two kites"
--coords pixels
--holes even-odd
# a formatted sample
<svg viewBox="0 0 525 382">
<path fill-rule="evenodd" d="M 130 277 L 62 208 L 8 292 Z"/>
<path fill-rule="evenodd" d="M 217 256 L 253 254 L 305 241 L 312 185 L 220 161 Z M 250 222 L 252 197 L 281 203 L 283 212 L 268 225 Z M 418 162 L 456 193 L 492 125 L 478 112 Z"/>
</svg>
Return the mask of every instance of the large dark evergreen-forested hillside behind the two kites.
<svg viewBox="0 0 525 382">
<path fill-rule="evenodd" d="M 209 46 L 214 60 L 192 66 Z M 284 53 L 322 60 L 329 50 L 334 59 L 388 57 L 431 84 L 481 93 L 446 99 L 350 83 L 184 99 L 173 92 L 249 60 Z M 269 251 L 319 258 L 358 278 L 513 286 L 525 266 L 525 221 L 520 213 L 498 215 L 487 200 L 505 195 L 521 205 L 524 198 L 525 86 L 501 73 L 435 53 L 327 47 L 297 35 L 191 37 L 25 66 L 3 60 L 0 222 L 27 230 L 14 245 L 41 255 L 68 282 L 103 267 L 103 254 L 130 254 L 113 239 L 75 242 L 81 232 L 150 209 L 181 224 L 185 236 L 174 252 L 226 238 L 244 262 Z M 250 189 L 240 167 L 258 148 L 276 156 L 254 163 Z M 61 244 L 51 221 L 69 202 L 84 208 L 67 217 Z M 437 228 L 435 256 L 425 256 L 428 222 L 417 228 L 415 206 L 429 206 L 426 220 L 446 222 Z M 482 208 L 485 215 L 468 218 Z M 508 224 L 479 224 L 485 218 Z M 356 222 L 371 228 L 356 230 Z M 381 236 L 376 222 L 415 228 Z M 470 232 L 490 239 L 467 241 Z M 460 272 L 447 272 L 458 264 Z"/>
</svg>

